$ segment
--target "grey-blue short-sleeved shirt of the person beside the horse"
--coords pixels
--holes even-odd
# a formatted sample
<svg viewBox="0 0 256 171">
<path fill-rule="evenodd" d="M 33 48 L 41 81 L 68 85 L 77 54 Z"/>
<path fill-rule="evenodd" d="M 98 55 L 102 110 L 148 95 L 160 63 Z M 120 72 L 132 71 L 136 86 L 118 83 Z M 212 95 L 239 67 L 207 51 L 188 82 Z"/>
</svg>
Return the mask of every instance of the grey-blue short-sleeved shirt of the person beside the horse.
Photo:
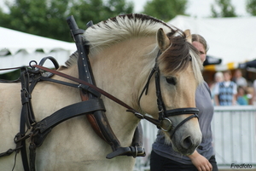
<svg viewBox="0 0 256 171">
<path fill-rule="evenodd" d="M 213 105 L 211 100 L 210 89 L 206 82 L 196 89 L 195 104 L 199 109 L 199 125 L 202 133 L 202 140 L 199 147 L 196 149 L 203 157 L 210 159 L 214 155 L 212 147 L 212 128 L 211 122 L 213 117 Z M 189 157 L 183 156 L 172 149 L 172 145 L 165 144 L 165 135 L 157 134 L 157 138 L 152 146 L 154 152 L 162 157 L 169 158 L 173 161 L 183 164 L 192 164 Z"/>
</svg>

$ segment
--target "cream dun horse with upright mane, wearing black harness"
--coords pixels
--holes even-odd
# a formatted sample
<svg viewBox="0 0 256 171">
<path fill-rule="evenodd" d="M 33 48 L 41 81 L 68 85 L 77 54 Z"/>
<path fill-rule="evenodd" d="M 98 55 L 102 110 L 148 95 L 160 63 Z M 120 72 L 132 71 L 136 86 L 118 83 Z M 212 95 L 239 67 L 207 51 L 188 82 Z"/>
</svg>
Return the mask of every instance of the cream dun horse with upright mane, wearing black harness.
<svg viewBox="0 0 256 171">
<path fill-rule="evenodd" d="M 168 26 L 144 14 L 124 14 L 90 26 L 84 38 L 90 45 L 90 65 L 96 85 L 143 115 L 158 119 L 155 78 L 148 75 L 159 66 L 161 98 L 166 110 L 195 107 L 195 89 L 202 82 L 202 64 L 198 52 L 189 43 L 187 32 Z M 79 77 L 77 55 L 71 55 L 58 71 Z M 156 74 L 156 73 L 154 73 Z M 56 80 L 73 83 L 59 76 Z M 147 94 L 143 91 L 148 84 Z M 20 83 L 0 83 L 0 152 L 15 148 L 14 137 L 20 127 Z M 106 116 L 121 145 L 131 145 L 140 119 L 125 107 L 102 96 Z M 37 121 L 53 112 L 81 101 L 78 88 L 46 81 L 32 92 L 32 106 Z M 171 137 L 173 129 L 189 113 L 168 117 L 172 129 L 163 131 L 166 143 L 183 155 L 195 151 L 201 143 L 198 119 L 183 123 Z M 29 141 L 29 140 L 27 140 Z M 29 142 L 26 142 L 29 143 Z M 110 146 L 96 135 L 84 116 L 73 117 L 57 125 L 37 149 L 37 170 L 132 170 L 133 157 L 107 159 Z M 16 160 L 16 161 L 15 161 Z M 21 157 L 15 154 L 0 158 L 1 170 L 23 170 Z"/>
</svg>

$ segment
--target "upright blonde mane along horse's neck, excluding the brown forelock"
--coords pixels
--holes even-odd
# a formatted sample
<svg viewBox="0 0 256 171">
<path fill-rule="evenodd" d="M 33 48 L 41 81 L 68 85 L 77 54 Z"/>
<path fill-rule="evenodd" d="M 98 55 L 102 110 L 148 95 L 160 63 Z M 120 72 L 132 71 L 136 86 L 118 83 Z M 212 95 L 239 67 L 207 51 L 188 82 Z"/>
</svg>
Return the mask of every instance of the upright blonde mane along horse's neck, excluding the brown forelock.
<svg viewBox="0 0 256 171">
<path fill-rule="evenodd" d="M 124 14 L 90 26 L 84 31 L 84 40 L 90 45 L 90 55 L 93 56 L 132 37 L 155 36 L 159 28 L 165 32 L 177 31 L 174 26 L 167 26 L 165 22 L 145 14 Z M 72 54 L 66 65 L 76 64 L 77 57 L 77 53 Z"/>
</svg>

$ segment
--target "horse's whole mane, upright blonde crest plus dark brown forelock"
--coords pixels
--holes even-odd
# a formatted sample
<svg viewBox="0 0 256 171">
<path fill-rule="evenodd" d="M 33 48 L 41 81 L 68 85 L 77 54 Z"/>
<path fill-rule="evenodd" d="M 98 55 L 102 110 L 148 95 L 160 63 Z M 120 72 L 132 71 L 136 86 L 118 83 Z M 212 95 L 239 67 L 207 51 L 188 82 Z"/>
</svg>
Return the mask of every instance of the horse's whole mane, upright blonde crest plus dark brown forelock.
<svg viewBox="0 0 256 171">
<path fill-rule="evenodd" d="M 145 14 L 124 14 L 102 21 L 84 31 L 84 38 L 90 45 L 90 55 L 100 53 L 103 49 L 120 43 L 131 37 L 155 36 L 162 28 L 171 40 L 171 46 L 160 55 L 158 60 L 160 70 L 164 73 L 182 71 L 189 65 L 192 54 L 196 49 L 186 41 L 186 35 L 175 26 L 168 26 L 165 22 Z M 155 50 L 158 51 L 157 48 Z M 155 53 L 157 54 L 157 53 Z M 78 54 L 73 54 L 66 65 L 76 64 Z"/>
</svg>

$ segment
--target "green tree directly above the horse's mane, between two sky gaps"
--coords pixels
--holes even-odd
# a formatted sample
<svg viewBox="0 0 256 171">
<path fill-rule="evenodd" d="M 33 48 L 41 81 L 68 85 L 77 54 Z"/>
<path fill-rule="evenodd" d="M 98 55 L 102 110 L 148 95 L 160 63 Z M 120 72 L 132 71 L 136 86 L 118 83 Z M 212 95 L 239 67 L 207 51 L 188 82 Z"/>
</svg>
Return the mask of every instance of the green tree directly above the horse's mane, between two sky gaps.
<svg viewBox="0 0 256 171">
<path fill-rule="evenodd" d="M 146 3 L 143 13 L 169 21 L 177 14 L 185 14 L 187 3 L 187 0 L 152 0 Z"/>
</svg>

